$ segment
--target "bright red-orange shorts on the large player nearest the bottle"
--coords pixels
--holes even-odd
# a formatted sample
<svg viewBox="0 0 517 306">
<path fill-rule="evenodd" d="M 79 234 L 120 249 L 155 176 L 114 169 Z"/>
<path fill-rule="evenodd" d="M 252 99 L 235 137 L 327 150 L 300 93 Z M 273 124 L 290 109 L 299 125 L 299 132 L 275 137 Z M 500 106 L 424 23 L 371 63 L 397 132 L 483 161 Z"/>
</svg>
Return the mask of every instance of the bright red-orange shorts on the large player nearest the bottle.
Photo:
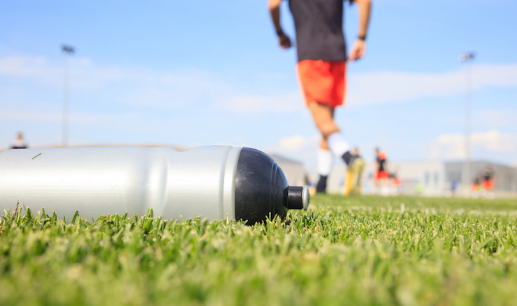
<svg viewBox="0 0 517 306">
<path fill-rule="evenodd" d="M 332 108 L 343 105 L 347 87 L 344 78 L 346 68 L 344 61 L 300 61 L 296 70 L 305 104 L 320 102 Z"/>
</svg>

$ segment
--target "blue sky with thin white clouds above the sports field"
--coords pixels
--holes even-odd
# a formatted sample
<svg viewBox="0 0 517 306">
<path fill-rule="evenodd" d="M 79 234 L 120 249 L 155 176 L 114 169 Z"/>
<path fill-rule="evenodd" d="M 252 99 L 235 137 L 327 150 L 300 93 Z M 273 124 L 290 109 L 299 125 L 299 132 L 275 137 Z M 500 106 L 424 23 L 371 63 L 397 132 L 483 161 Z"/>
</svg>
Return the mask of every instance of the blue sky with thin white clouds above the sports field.
<svg viewBox="0 0 517 306">
<path fill-rule="evenodd" d="M 319 135 L 277 46 L 265 0 L 0 2 L 0 148 L 61 141 L 63 55 L 70 142 L 252 146 L 314 167 Z M 356 6 L 344 29 L 356 36 Z M 472 64 L 472 157 L 517 162 L 517 2 L 374 0 L 364 59 L 348 66 L 336 120 L 368 160 L 463 156 Z M 293 24 L 282 6 L 286 33 Z"/>
</svg>

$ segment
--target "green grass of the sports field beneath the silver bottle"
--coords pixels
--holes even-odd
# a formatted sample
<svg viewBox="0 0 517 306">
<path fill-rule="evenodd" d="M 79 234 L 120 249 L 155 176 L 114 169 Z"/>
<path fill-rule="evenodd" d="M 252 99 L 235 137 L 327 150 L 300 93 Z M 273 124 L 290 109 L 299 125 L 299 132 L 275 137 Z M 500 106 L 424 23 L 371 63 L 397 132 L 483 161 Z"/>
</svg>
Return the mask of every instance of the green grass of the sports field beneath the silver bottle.
<svg viewBox="0 0 517 306">
<path fill-rule="evenodd" d="M 517 305 L 517 201 L 311 201 L 253 227 L 7 213 L 0 305 Z"/>
</svg>

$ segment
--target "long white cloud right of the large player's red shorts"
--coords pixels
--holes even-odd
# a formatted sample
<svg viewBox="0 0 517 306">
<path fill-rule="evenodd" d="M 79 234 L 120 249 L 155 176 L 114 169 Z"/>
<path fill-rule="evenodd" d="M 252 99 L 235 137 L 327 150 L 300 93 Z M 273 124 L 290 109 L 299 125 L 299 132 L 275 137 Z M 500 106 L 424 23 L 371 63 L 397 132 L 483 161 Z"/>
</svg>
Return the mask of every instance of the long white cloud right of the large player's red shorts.
<svg viewBox="0 0 517 306">
<path fill-rule="evenodd" d="M 517 86 L 517 65 L 474 65 L 472 89 Z M 404 102 L 465 92 L 465 71 L 442 73 L 371 72 L 349 75 L 347 105 Z"/>
</svg>

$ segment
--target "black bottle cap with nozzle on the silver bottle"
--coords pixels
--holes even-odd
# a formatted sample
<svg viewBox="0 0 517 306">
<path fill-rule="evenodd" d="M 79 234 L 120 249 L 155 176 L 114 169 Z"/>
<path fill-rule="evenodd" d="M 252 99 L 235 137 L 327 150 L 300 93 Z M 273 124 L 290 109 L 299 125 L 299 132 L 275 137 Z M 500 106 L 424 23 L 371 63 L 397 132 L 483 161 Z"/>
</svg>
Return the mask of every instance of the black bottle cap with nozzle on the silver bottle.
<svg viewBox="0 0 517 306">
<path fill-rule="evenodd" d="M 305 187 L 289 187 L 284 172 L 267 154 L 242 148 L 235 175 L 235 219 L 247 224 L 263 222 L 271 215 L 282 219 L 288 209 L 305 209 L 309 192 Z"/>
</svg>

